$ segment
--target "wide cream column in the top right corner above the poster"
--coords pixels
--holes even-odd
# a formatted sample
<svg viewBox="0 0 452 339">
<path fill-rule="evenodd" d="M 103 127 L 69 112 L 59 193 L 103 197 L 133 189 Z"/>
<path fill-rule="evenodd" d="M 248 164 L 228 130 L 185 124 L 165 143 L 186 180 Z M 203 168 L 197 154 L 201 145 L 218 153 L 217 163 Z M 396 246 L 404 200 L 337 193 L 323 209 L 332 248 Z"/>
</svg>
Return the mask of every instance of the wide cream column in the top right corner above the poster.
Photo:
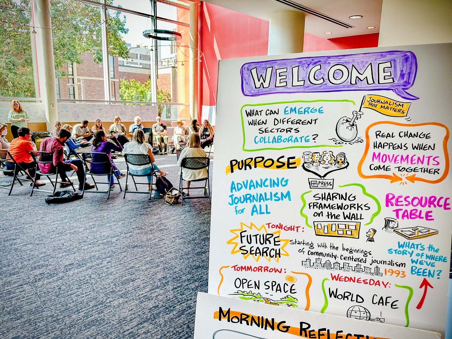
<svg viewBox="0 0 452 339">
<path fill-rule="evenodd" d="M 378 47 L 452 42 L 451 0 L 383 0 Z"/>
</svg>

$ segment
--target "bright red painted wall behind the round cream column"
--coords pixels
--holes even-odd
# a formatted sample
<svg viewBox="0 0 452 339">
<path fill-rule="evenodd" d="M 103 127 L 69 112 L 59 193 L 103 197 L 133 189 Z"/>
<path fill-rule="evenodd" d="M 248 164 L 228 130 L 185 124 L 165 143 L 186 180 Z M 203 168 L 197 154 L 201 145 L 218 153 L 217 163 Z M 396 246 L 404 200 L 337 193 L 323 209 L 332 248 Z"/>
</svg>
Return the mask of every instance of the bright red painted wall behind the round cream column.
<svg viewBox="0 0 452 339">
<path fill-rule="evenodd" d="M 267 55 L 268 21 L 201 2 L 198 18 L 198 119 L 202 106 L 217 104 L 218 61 Z M 303 52 L 377 47 L 378 33 L 324 39 L 305 33 Z"/>
</svg>

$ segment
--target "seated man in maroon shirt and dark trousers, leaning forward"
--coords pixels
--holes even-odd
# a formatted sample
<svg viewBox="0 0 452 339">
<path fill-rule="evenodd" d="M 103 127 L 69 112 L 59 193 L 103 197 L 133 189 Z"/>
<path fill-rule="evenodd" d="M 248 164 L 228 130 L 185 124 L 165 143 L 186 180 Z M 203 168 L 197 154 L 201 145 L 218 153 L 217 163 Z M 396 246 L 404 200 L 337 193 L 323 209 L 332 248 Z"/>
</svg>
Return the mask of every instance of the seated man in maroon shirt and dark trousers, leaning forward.
<svg viewBox="0 0 452 339">
<path fill-rule="evenodd" d="M 62 177 L 66 177 L 66 181 L 68 182 L 69 178 L 67 178 L 66 172 L 73 170 L 77 173 L 77 177 L 79 178 L 79 189 L 81 190 L 85 180 L 85 167 L 83 166 L 82 160 L 64 160 L 63 158 L 63 145 L 70 137 L 71 132 L 61 128 L 56 138 L 50 137 L 41 141 L 39 151 L 52 153 L 53 162 L 49 164 L 39 164 L 39 169 L 42 173 L 55 173 L 55 169 L 57 169 L 58 173 L 61 174 Z M 87 182 L 84 184 L 85 189 L 94 188 L 94 184 L 88 184 Z"/>
</svg>

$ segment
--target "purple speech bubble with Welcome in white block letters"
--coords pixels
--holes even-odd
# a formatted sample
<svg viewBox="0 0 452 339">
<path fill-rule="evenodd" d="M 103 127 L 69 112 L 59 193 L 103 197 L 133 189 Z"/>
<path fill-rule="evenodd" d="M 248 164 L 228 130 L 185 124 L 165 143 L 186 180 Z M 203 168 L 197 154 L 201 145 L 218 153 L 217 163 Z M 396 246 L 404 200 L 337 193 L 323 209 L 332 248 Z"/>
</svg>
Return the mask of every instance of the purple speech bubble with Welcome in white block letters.
<svg viewBox="0 0 452 339">
<path fill-rule="evenodd" d="M 383 89 L 416 100 L 405 91 L 416 71 L 413 52 L 387 51 L 248 62 L 240 75 L 246 96 Z"/>
</svg>

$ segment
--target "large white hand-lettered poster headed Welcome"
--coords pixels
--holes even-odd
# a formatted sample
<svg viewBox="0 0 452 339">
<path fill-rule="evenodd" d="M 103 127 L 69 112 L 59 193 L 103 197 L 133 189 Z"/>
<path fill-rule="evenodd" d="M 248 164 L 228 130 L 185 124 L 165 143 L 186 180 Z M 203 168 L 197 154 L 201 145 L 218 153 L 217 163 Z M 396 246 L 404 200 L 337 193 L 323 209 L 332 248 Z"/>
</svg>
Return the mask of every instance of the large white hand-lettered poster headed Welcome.
<svg viewBox="0 0 452 339">
<path fill-rule="evenodd" d="M 444 334 L 451 55 L 220 61 L 209 293 Z"/>
</svg>

